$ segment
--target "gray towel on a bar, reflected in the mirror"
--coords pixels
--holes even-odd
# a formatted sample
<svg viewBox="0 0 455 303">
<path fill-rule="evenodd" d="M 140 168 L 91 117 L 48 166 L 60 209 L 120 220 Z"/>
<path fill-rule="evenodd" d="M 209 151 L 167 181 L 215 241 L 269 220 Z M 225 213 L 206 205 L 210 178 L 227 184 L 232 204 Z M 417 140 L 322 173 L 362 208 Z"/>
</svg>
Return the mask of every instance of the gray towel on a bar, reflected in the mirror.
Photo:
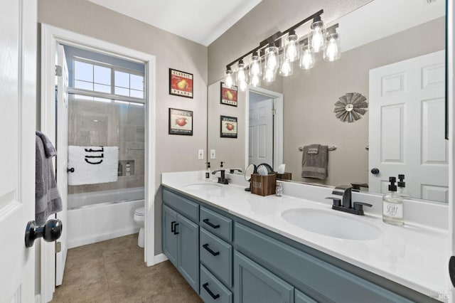
<svg viewBox="0 0 455 303">
<path fill-rule="evenodd" d="M 310 154 L 310 146 L 304 147 L 304 156 L 301 159 L 301 177 L 327 179 L 327 164 L 328 164 L 328 147 L 321 145 L 317 154 Z"/>
</svg>

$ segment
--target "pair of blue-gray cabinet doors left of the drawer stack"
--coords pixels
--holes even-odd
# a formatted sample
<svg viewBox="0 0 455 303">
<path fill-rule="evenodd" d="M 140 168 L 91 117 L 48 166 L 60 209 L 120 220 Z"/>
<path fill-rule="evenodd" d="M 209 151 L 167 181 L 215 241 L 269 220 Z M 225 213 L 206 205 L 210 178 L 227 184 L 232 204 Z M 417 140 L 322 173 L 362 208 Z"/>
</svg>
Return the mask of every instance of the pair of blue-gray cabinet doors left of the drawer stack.
<svg viewBox="0 0 455 303">
<path fill-rule="evenodd" d="M 199 293 L 199 226 L 168 206 L 163 206 L 163 252 Z"/>
</svg>

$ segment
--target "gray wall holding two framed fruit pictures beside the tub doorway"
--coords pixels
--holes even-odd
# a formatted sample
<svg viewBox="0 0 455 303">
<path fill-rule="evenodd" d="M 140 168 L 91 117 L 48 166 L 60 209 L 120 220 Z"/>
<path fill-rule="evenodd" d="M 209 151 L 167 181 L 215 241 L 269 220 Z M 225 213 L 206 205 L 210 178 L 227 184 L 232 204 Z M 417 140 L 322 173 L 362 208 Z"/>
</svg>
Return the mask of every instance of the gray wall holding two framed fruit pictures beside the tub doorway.
<svg viewBox="0 0 455 303">
<path fill-rule="evenodd" d="M 38 22 L 156 56 L 156 188 L 166 171 L 203 170 L 207 129 L 207 48 L 85 0 L 40 0 Z M 192 73 L 194 98 L 168 95 L 168 68 Z M 193 110 L 193 136 L 168 134 L 168 108 Z M 153 203 L 153 201 L 150 201 Z M 155 197 L 155 254 L 161 252 L 161 193 Z"/>
</svg>

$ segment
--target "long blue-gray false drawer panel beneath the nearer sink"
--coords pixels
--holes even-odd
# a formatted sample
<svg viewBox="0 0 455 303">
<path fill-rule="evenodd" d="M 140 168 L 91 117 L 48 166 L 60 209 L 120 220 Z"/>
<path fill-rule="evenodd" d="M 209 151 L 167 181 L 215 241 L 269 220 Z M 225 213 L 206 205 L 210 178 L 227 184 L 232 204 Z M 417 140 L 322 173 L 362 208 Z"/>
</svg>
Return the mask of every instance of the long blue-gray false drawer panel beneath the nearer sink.
<svg viewBox="0 0 455 303">
<path fill-rule="evenodd" d="M 234 225 L 237 249 L 267 264 L 269 270 L 335 302 L 412 302 L 240 223 Z M 350 289 L 346 291 L 346 289 Z"/>
</svg>

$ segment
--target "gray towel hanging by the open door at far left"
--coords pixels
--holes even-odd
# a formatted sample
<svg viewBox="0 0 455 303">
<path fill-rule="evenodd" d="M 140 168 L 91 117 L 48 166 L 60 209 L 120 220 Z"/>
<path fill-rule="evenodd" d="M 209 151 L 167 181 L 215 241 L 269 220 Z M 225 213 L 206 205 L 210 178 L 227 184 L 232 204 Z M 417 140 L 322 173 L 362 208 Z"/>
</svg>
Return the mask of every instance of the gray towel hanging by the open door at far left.
<svg viewBox="0 0 455 303">
<path fill-rule="evenodd" d="M 51 213 L 62 210 L 62 200 L 57 189 L 52 157 L 56 151 L 52 143 L 41 132 L 36 132 L 36 171 L 35 171 L 35 220 L 44 225 Z"/>
</svg>

